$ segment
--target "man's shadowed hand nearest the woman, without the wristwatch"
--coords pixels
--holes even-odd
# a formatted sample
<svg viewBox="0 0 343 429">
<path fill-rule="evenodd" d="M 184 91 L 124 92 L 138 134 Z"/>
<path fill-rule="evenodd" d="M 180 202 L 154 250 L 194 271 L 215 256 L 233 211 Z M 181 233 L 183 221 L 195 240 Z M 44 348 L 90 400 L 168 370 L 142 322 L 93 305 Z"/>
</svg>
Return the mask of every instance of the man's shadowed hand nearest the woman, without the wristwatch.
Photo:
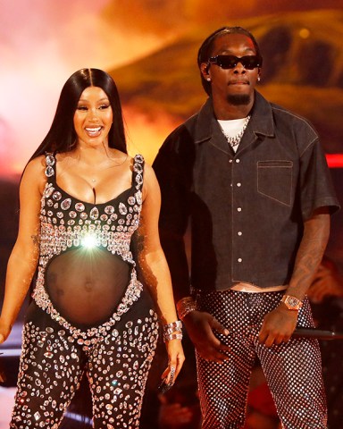
<svg viewBox="0 0 343 429">
<path fill-rule="evenodd" d="M 185 316 L 183 323 L 201 357 L 217 363 L 222 363 L 229 358 L 223 351 L 229 351 L 230 348 L 222 344 L 213 333 L 213 331 L 217 331 L 222 335 L 228 335 L 229 331 L 213 315 L 194 310 Z"/>
</svg>

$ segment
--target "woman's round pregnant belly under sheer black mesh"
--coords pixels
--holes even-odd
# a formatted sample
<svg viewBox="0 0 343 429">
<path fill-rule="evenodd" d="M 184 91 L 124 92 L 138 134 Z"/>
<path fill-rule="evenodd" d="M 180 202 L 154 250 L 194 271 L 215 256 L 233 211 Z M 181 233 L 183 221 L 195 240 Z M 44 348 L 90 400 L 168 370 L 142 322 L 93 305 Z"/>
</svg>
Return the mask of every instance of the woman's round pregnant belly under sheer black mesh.
<svg viewBox="0 0 343 429">
<path fill-rule="evenodd" d="M 71 324 L 104 323 L 125 292 L 130 265 L 102 248 L 71 249 L 46 267 L 46 290 Z"/>
</svg>

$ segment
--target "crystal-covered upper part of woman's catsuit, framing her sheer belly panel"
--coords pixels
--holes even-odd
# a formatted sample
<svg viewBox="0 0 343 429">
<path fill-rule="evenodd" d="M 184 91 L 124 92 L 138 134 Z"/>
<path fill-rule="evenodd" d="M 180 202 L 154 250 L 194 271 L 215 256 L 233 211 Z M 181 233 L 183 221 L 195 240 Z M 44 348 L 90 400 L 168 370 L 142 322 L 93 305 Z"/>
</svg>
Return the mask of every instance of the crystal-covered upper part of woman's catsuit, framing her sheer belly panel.
<svg viewBox="0 0 343 429">
<path fill-rule="evenodd" d="M 132 184 L 117 198 L 104 204 L 91 204 L 71 197 L 59 188 L 55 179 L 55 158 L 46 156 L 47 182 L 41 199 L 40 257 L 38 278 L 33 299 L 38 307 L 71 332 L 79 344 L 89 346 L 109 331 L 121 318 L 142 290 L 136 273 L 136 263 L 130 251 L 130 241 L 138 228 L 142 205 L 143 166 L 142 156 L 135 156 Z M 86 243 L 110 252 L 130 265 L 130 282 L 121 302 L 103 324 L 82 330 L 71 324 L 53 304 L 46 290 L 46 269 L 49 263 L 71 249 L 82 248 Z M 86 250 L 85 250 L 86 251 Z"/>
</svg>

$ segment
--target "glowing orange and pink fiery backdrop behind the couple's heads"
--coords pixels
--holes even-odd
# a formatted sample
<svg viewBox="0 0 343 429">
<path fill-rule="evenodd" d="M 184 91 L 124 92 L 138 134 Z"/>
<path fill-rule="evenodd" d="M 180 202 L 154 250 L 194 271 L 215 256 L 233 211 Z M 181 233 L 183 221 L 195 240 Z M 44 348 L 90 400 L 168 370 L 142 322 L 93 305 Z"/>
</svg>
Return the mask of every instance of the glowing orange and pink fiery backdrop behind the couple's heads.
<svg viewBox="0 0 343 429">
<path fill-rule="evenodd" d="M 152 162 L 168 132 L 205 99 L 197 78 L 196 54 L 210 31 L 222 25 L 243 25 L 263 38 L 268 29 L 292 29 L 297 23 L 303 40 L 315 33 L 315 38 L 335 46 L 333 38 L 337 38 L 333 49 L 337 52 L 332 55 L 340 69 L 330 72 L 331 83 L 328 77 L 325 85 L 301 81 L 307 88 L 302 94 L 305 99 L 295 104 L 294 95 L 299 94 L 294 88 L 297 66 L 306 67 L 306 55 L 314 55 L 304 44 L 302 52 L 287 57 L 298 64 L 282 63 L 285 68 L 283 73 L 278 71 L 278 79 L 269 79 L 265 71 L 263 92 L 304 114 L 329 98 L 330 118 L 332 114 L 339 118 L 337 100 L 342 99 L 343 86 L 341 0 L 246 0 L 239 5 L 222 0 L 4 1 L 0 14 L 0 176 L 22 171 L 46 135 L 60 90 L 73 71 L 98 67 L 112 72 L 121 90 L 130 152 L 143 152 Z M 308 26 L 314 28 L 310 33 Z M 284 50 L 284 40 L 276 38 L 276 43 L 278 40 L 279 47 L 271 46 L 272 40 L 264 43 L 267 54 L 273 55 L 273 68 Z M 321 50 L 319 44 L 318 55 L 322 55 L 325 69 L 325 46 Z M 309 70 L 309 79 L 316 72 Z M 282 82 L 285 87 L 280 87 Z M 190 91 L 189 98 L 185 91 Z M 321 114 L 311 116 L 321 131 Z M 331 134 L 338 132 L 337 122 L 340 119 L 330 126 Z"/>
</svg>

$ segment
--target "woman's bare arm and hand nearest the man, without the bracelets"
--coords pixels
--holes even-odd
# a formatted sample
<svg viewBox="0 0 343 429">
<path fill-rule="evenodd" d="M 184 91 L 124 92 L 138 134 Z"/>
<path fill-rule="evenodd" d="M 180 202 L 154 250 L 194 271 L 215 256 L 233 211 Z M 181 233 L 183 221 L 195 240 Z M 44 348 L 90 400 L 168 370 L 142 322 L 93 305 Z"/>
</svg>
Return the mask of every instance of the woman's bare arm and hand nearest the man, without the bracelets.
<svg viewBox="0 0 343 429">
<path fill-rule="evenodd" d="M 138 269 L 143 275 L 159 313 L 162 323 L 171 324 L 177 320 L 171 287 L 171 274 L 164 257 L 158 233 L 158 217 L 161 206 L 160 188 L 153 169 L 146 165 L 144 172 L 143 205 L 138 228 Z M 170 366 L 163 375 L 175 368 L 179 374 L 185 359 L 180 340 L 166 341 Z M 170 379 L 170 375 L 168 375 Z"/>
</svg>

